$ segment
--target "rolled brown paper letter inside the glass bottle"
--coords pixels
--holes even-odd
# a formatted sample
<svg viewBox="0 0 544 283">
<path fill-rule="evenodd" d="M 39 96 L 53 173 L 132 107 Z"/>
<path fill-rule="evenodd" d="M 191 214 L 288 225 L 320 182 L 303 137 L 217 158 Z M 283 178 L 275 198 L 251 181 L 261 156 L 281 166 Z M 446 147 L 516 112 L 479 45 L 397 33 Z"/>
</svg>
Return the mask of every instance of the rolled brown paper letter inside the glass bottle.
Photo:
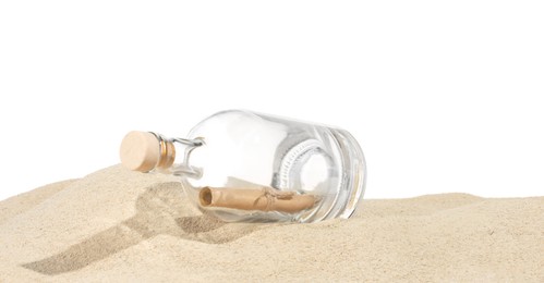
<svg viewBox="0 0 544 283">
<path fill-rule="evenodd" d="M 270 187 L 263 189 L 203 187 L 198 196 L 203 207 L 288 213 L 312 208 L 317 201 L 317 197 L 313 195 L 295 195 L 293 192 L 282 192 Z"/>
</svg>

